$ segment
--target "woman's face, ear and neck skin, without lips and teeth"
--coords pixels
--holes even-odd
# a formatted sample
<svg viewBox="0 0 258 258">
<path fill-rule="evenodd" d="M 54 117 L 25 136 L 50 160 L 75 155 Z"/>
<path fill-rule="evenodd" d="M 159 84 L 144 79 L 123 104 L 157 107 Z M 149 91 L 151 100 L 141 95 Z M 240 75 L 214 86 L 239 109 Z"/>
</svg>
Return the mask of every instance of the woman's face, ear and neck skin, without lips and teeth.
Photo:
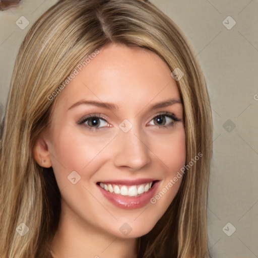
<svg viewBox="0 0 258 258">
<path fill-rule="evenodd" d="M 140 208 L 118 207 L 103 195 L 99 182 L 140 178 L 156 181 L 156 196 L 185 164 L 185 132 L 176 82 L 158 55 L 114 43 L 99 51 L 62 90 L 51 131 L 33 148 L 41 166 L 52 166 L 61 193 L 55 258 L 137 257 L 136 239 L 162 217 L 182 179 Z"/>
</svg>

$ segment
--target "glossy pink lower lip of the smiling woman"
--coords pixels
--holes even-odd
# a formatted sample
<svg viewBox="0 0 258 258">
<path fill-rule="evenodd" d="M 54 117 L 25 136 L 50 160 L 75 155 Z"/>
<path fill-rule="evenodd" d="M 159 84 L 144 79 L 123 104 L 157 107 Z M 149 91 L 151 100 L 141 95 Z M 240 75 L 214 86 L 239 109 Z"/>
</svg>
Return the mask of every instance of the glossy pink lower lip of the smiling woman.
<svg viewBox="0 0 258 258">
<path fill-rule="evenodd" d="M 155 191 L 158 187 L 158 184 L 159 182 L 156 182 L 149 191 L 142 193 L 142 195 L 138 197 L 116 195 L 116 193 L 104 190 L 100 185 L 98 185 L 98 187 L 102 192 L 103 196 L 109 202 L 111 202 L 119 208 L 130 210 L 146 206 L 151 200 L 151 198 L 155 195 Z"/>
</svg>

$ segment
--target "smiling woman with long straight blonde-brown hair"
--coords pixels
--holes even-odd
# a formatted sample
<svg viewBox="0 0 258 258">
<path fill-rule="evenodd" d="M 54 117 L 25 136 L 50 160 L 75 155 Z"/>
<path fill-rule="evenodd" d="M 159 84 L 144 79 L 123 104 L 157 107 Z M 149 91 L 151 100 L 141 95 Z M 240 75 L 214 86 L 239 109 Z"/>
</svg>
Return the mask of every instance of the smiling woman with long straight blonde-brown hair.
<svg viewBox="0 0 258 258">
<path fill-rule="evenodd" d="M 209 257 L 209 97 L 151 3 L 64 0 L 19 51 L 1 146 L 1 257 Z"/>
</svg>

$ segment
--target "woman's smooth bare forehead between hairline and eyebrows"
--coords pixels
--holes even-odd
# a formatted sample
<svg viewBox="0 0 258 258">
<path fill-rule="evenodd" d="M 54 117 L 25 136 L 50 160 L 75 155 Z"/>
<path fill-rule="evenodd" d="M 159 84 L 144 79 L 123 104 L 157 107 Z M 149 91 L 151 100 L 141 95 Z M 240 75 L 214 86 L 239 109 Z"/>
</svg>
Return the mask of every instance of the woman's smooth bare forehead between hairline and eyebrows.
<svg viewBox="0 0 258 258">
<path fill-rule="evenodd" d="M 118 44 L 109 44 L 99 51 L 61 92 L 62 106 L 81 99 L 118 106 L 169 97 L 180 99 L 170 69 L 154 52 Z"/>
</svg>

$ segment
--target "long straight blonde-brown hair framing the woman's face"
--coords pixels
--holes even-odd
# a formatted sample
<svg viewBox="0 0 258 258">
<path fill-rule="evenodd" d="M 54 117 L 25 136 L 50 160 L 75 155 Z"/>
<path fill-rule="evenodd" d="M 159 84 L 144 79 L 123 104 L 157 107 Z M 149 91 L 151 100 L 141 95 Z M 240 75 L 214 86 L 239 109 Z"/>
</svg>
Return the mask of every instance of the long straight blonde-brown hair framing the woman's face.
<svg viewBox="0 0 258 258">
<path fill-rule="evenodd" d="M 26 35 L 16 59 L 3 122 L 0 165 L 0 256 L 49 258 L 58 227 L 60 192 L 52 168 L 40 167 L 32 147 L 50 124 L 56 96 L 47 96 L 86 56 L 115 42 L 150 49 L 177 81 L 183 103 L 186 165 L 179 191 L 155 227 L 138 241 L 138 257 L 209 257 L 207 188 L 212 117 L 205 79 L 180 29 L 154 5 L 140 0 L 63 0 Z M 18 233 L 26 225 L 29 231 Z M 20 228 L 19 228 L 20 227 Z M 17 229 L 18 228 L 18 229 Z"/>
</svg>

